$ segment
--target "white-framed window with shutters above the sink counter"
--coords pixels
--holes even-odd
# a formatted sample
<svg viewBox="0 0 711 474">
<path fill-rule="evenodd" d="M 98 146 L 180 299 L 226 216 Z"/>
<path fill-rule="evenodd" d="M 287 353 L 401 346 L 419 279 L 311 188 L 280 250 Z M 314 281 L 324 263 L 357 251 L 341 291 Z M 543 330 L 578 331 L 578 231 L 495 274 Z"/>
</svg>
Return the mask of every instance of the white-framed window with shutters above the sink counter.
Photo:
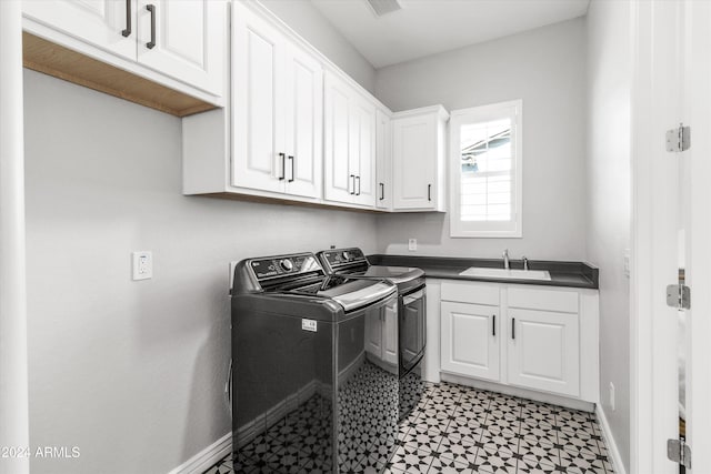
<svg viewBox="0 0 711 474">
<path fill-rule="evenodd" d="M 451 236 L 522 236 L 521 121 L 521 100 L 451 112 Z"/>
</svg>

